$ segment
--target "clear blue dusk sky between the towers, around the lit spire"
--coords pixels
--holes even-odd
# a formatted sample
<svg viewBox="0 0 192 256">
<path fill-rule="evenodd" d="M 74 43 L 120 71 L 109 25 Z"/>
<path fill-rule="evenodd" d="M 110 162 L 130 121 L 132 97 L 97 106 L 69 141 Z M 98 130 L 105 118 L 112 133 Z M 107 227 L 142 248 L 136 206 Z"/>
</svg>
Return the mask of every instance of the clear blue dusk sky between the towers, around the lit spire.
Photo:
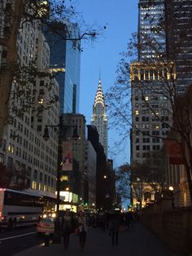
<svg viewBox="0 0 192 256">
<path fill-rule="evenodd" d="M 120 61 L 120 52 L 126 50 L 131 33 L 137 31 L 137 3 L 138 0 L 78 1 L 78 10 L 81 11 L 86 23 L 107 26 L 105 33 L 95 42 L 83 43 L 80 113 L 85 115 L 87 125 L 90 124 L 99 74 L 105 94 L 116 80 L 116 66 Z M 112 151 L 116 140 L 118 137 L 115 131 L 109 130 L 108 158 L 114 160 L 114 166 L 120 166 L 129 162 L 129 144 L 124 152 L 115 157 Z"/>
</svg>

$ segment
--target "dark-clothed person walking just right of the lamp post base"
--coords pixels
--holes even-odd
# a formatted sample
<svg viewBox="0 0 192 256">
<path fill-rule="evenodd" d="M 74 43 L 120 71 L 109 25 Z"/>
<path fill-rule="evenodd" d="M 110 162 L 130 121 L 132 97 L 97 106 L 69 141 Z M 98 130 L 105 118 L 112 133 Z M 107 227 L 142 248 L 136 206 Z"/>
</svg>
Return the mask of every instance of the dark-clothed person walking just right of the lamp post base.
<svg viewBox="0 0 192 256">
<path fill-rule="evenodd" d="M 70 212 L 67 210 L 63 216 L 63 223 L 62 223 L 63 245 L 65 249 L 68 249 L 71 232 L 72 232 L 72 216 Z"/>
</svg>

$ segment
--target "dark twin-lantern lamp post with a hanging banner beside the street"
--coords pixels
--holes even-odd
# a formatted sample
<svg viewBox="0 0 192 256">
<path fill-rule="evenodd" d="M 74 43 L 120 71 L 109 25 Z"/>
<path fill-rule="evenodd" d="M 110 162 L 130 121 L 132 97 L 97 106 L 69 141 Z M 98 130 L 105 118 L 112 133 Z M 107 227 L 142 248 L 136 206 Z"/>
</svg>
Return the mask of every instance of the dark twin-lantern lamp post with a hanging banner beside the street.
<svg viewBox="0 0 192 256">
<path fill-rule="evenodd" d="M 58 133 L 58 161 L 57 161 L 57 183 L 56 183 L 56 191 L 57 191 L 57 198 L 56 198 L 56 218 L 55 218 L 55 233 L 53 236 L 53 243 L 60 243 L 61 238 L 59 234 L 59 204 L 60 204 L 60 175 L 63 170 L 63 140 L 64 140 L 64 132 L 73 126 L 66 126 L 63 125 L 63 117 L 59 117 L 59 125 L 58 126 L 46 126 L 44 130 L 43 139 L 48 141 L 50 139 L 49 128 L 52 129 L 54 132 Z M 73 127 L 73 139 L 78 139 L 77 133 L 77 126 Z"/>
</svg>

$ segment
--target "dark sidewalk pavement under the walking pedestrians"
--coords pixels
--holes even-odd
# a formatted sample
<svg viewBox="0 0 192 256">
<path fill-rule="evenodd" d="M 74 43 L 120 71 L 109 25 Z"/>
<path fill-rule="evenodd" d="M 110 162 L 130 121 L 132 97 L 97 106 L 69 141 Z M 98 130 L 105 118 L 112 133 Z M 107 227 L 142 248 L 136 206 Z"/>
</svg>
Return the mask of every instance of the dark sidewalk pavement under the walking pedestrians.
<svg viewBox="0 0 192 256">
<path fill-rule="evenodd" d="M 168 248 L 153 236 L 151 232 L 134 224 L 129 231 L 120 232 L 119 245 L 111 246 L 108 231 L 102 232 L 98 228 L 90 228 L 83 252 L 78 248 L 78 236 L 71 236 L 71 244 L 66 251 L 62 244 L 49 246 L 37 245 L 15 254 L 14 256 L 173 256 Z"/>
</svg>

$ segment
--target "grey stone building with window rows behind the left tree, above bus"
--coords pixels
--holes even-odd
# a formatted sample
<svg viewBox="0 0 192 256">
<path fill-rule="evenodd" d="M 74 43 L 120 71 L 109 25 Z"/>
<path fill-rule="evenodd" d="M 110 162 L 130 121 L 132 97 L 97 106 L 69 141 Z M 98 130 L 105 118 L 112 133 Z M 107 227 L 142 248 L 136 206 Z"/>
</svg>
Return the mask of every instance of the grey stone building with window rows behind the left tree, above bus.
<svg viewBox="0 0 192 256">
<path fill-rule="evenodd" d="M 1 37 L 5 36 L 2 32 Z M 2 48 L 0 67 L 7 68 L 7 46 Z M 35 22 L 33 25 L 30 22 L 22 24 L 17 34 L 17 51 L 21 70 L 35 62 L 39 72 L 49 71 L 50 48 Z M 16 107 L 20 115 L 15 115 L 12 122 L 4 126 L 0 161 L 11 174 L 10 188 L 55 196 L 58 138 L 50 135 L 49 142 L 46 142 L 42 135 L 49 119 L 51 125 L 58 124 L 59 103 L 49 105 L 49 110 L 46 107 L 51 95 L 58 95 L 59 87 L 55 80 L 50 81 L 49 76 L 40 78 L 28 73 L 22 75 L 28 75 L 29 81 L 25 81 L 24 86 L 18 80 L 12 82 L 9 113 L 13 114 L 13 107 Z M 50 87 L 49 92 L 47 87 Z M 22 109 L 22 106 L 25 108 Z"/>
</svg>

